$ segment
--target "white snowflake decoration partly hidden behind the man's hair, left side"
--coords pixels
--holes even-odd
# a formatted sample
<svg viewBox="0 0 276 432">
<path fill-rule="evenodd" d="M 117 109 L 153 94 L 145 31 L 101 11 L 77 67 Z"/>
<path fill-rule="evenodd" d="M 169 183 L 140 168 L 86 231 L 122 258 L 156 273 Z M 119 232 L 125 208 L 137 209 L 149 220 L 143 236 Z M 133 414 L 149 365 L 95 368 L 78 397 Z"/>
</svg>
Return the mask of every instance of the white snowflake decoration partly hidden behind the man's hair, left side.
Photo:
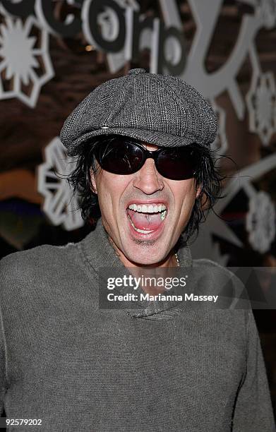
<svg viewBox="0 0 276 432">
<path fill-rule="evenodd" d="M 45 160 L 38 169 L 37 190 L 44 196 L 43 211 L 54 225 L 63 224 L 67 231 L 82 227 L 84 222 L 78 208 L 78 196 L 66 180 L 76 167 L 66 148 L 56 137 L 45 149 Z"/>
</svg>

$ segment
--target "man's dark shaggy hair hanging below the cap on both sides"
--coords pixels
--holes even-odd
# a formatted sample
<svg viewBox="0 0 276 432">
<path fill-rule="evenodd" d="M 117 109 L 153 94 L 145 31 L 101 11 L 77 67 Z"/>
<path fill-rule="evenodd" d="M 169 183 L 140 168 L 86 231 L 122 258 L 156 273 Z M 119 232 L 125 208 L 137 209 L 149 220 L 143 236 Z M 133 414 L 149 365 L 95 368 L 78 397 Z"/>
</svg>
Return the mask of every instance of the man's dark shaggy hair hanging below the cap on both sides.
<svg viewBox="0 0 276 432">
<path fill-rule="evenodd" d="M 93 191 L 90 172 L 96 172 L 95 147 L 101 142 L 97 137 L 83 144 L 77 156 L 76 169 L 68 176 L 68 182 L 73 186 L 74 193 L 78 193 L 81 215 L 86 222 L 95 224 L 100 217 L 100 206 L 97 194 Z M 191 144 L 200 155 L 200 164 L 196 171 L 196 187 L 200 193 L 193 206 L 190 220 L 184 229 L 186 240 L 193 234 L 198 234 L 199 224 L 205 222 L 210 209 L 217 198 L 220 198 L 221 181 L 224 177 L 215 166 L 214 152 L 199 144 Z"/>
</svg>

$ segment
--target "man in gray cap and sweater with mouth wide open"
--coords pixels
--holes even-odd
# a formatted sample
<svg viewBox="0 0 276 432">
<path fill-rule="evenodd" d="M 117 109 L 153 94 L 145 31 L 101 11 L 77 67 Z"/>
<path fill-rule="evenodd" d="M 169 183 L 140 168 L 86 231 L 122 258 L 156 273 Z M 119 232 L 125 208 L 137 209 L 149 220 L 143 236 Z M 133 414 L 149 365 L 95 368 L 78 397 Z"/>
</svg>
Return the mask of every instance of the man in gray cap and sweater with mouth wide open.
<svg viewBox="0 0 276 432">
<path fill-rule="evenodd" d="M 216 129 L 195 89 L 143 69 L 100 85 L 68 117 L 61 141 L 78 156 L 71 182 L 83 217 L 101 218 L 78 244 L 2 261 L 8 418 L 39 419 L 42 431 L 273 430 L 250 310 L 235 310 L 234 300 L 214 310 L 167 298 L 101 307 L 102 268 L 193 270 L 207 292 L 220 292 L 225 277 L 238 290 L 227 270 L 193 261 L 185 244 L 219 190 Z"/>
</svg>

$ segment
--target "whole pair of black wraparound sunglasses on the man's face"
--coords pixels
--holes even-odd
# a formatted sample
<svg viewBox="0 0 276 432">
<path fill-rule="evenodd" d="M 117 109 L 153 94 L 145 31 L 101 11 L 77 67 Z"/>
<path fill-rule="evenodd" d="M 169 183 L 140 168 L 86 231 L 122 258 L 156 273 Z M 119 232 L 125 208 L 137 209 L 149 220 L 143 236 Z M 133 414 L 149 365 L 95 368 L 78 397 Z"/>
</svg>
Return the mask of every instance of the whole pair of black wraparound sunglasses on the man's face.
<svg viewBox="0 0 276 432">
<path fill-rule="evenodd" d="M 106 136 L 94 152 L 100 167 L 113 174 L 133 174 L 151 158 L 163 177 L 186 180 L 195 176 L 200 163 L 200 153 L 193 145 L 149 151 L 140 142 L 124 136 Z"/>
</svg>

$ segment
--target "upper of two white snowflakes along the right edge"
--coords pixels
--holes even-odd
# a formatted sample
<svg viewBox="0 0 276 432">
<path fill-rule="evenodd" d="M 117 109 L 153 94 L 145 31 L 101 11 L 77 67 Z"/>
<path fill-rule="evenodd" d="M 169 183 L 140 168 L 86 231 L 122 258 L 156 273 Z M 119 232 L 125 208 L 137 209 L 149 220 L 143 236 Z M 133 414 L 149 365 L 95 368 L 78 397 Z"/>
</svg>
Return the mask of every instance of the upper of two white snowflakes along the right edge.
<svg viewBox="0 0 276 432">
<path fill-rule="evenodd" d="M 253 77 L 251 89 L 246 97 L 249 112 L 249 130 L 260 136 L 263 145 L 268 145 L 276 131 L 275 80 L 271 72 Z"/>
</svg>

